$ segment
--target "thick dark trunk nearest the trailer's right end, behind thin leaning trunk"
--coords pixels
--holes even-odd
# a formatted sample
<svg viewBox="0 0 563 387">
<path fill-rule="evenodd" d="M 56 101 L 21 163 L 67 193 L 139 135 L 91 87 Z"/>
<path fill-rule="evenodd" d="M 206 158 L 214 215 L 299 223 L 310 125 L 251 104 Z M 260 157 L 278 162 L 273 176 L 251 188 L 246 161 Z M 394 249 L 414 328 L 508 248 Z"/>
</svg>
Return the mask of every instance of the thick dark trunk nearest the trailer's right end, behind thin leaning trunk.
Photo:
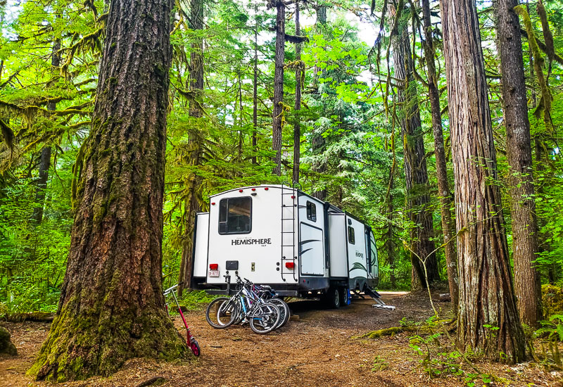
<svg viewBox="0 0 563 387">
<path fill-rule="evenodd" d="M 394 12 L 392 12 L 393 14 Z M 438 262 L 434 253 L 434 224 L 429 208 L 430 194 L 428 172 L 426 170 L 426 151 L 417 101 L 414 63 L 410 52 L 410 39 L 407 27 L 393 38 L 393 63 L 395 77 L 402 82 L 398 89 L 400 103 L 401 135 L 405 155 L 405 183 L 407 188 L 407 206 L 412 222 L 410 231 L 413 291 L 426 286 L 424 265 L 428 273 L 428 284 L 440 279 Z"/>
</svg>

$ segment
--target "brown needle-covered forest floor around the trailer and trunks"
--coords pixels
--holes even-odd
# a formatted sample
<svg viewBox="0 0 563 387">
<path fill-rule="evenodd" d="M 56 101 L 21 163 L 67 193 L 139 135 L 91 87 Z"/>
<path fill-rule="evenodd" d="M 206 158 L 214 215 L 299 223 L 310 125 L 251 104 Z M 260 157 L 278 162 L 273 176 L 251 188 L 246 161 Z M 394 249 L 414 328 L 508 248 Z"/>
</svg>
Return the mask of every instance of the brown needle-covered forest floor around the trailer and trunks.
<svg viewBox="0 0 563 387">
<path fill-rule="evenodd" d="M 92 378 L 59 386 L 139 386 L 155 376 L 160 386 L 464 386 L 464 376 L 448 374 L 429 379 L 410 348 L 415 333 L 357 338 L 368 331 L 399 326 L 400 320 L 423 321 L 431 316 L 427 295 L 382 292 L 395 311 L 372 308 L 373 301 L 354 300 L 339 310 L 326 310 L 317 301 L 290 302 L 293 317 L 286 326 L 267 335 L 254 334 L 248 326 L 213 329 L 205 312 L 187 314 L 192 333 L 201 345 L 201 357 L 187 364 L 129 360 L 110 378 Z M 449 303 L 437 303 L 447 315 Z M 175 317 L 178 329 L 183 329 Z M 46 338 L 48 323 L 3 323 L 18 348 L 16 357 L 0 357 L 0 386 L 49 386 L 25 375 Z M 459 360 L 457 360 L 459 363 Z M 534 364 L 507 366 L 477 362 L 480 371 L 498 379 L 491 386 L 563 386 L 561 372 Z M 471 369 L 469 370 L 473 372 Z M 465 376 L 468 375 L 467 370 Z M 483 385 L 481 379 L 476 386 Z"/>
</svg>

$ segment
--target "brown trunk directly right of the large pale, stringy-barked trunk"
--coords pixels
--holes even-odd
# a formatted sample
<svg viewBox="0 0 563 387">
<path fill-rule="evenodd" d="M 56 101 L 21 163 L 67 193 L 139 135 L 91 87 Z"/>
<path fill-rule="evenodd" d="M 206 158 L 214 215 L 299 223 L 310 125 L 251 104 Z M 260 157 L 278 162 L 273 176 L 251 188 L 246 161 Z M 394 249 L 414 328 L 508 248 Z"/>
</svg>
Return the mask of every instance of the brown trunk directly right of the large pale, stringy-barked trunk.
<svg viewBox="0 0 563 387">
<path fill-rule="evenodd" d="M 536 260 L 536 202 L 530 122 L 524 82 L 520 24 L 514 7 L 517 0 L 498 0 L 498 44 L 502 74 L 502 111 L 507 134 L 506 148 L 512 215 L 514 291 L 524 324 L 538 326 L 542 319 L 540 275 Z"/>
</svg>

